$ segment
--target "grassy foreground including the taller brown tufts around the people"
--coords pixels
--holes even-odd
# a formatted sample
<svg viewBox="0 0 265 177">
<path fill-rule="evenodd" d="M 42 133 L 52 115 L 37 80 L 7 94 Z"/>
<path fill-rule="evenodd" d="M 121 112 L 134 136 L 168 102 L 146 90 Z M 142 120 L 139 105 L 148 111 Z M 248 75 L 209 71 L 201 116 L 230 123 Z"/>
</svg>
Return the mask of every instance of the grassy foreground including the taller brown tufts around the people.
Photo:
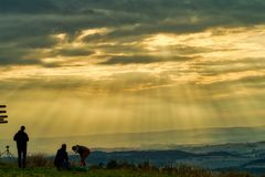
<svg viewBox="0 0 265 177">
<path fill-rule="evenodd" d="M 110 160 L 105 168 L 91 166 L 88 171 L 57 171 L 51 159 L 43 155 L 34 155 L 28 158 L 25 169 L 19 169 L 14 163 L 0 162 L 0 177 L 253 177 L 253 175 L 236 171 L 213 173 L 188 165 L 159 169 L 148 162 L 132 165 L 117 160 Z"/>
</svg>

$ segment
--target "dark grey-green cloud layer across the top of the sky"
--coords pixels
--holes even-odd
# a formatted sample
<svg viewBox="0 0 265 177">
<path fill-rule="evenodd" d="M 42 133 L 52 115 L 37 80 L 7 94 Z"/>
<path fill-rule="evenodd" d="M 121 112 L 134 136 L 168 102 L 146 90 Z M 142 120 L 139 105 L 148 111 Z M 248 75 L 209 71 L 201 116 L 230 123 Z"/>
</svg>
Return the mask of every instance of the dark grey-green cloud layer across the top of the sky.
<svg viewBox="0 0 265 177">
<path fill-rule="evenodd" d="M 251 27 L 265 23 L 263 0 L 1 0 L 0 45 L 12 44 L 14 53 L 0 53 L 0 63 L 40 64 L 25 59 L 32 49 L 53 48 L 55 33 L 74 38 L 92 28 L 114 28 L 103 41 L 125 41 L 161 32 L 191 33 L 214 27 Z M 131 27 L 131 28 L 124 28 Z M 89 42 L 92 39 L 85 39 Z M 93 41 L 93 40 L 92 40 Z M 13 53 L 12 52 L 12 53 Z M 91 51 L 92 53 L 94 51 Z M 89 55 L 66 51 L 65 55 Z M 149 63 L 145 60 L 110 59 L 113 63 Z M 34 63 L 35 62 L 35 63 Z"/>
</svg>

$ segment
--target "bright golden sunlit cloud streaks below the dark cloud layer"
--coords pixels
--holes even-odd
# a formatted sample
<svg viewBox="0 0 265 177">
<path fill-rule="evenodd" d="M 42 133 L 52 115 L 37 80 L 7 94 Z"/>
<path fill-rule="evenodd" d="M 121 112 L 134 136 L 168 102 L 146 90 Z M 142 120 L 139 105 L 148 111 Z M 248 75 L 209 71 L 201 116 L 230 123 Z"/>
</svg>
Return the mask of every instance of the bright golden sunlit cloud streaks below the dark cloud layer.
<svg viewBox="0 0 265 177">
<path fill-rule="evenodd" d="M 189 73 L 193 74 L 193 76 L 190 77 L 190 82 L 195 83 L 204 83 L 203 81 L 225 81 L 225 77 L 227 81 L 230 80 L 237 80 L 245 76 L 255 76 L 255 75 L 263 75 L 264 71 L 243 71 L 243 72 L 236 72 L 236 73 L 222 73 L 222 76 L 211 75 L 211 76 L 204 76 L 199 74 L 201 70 L 215 70 L 211 64 L 206 64 L 204 69 L 195 69 L 195 65 L 200 65 L 203 63 L 214 63 L 214 62 L 225 62 L 225 61 L 237 61 L 241 56 L 244 58 L 262 58 L 264 56 L 264 43 L 262 37 L 265 34 L 265 28 L 264 27 L 256 27 L 252 30 L 250 29 L 212 29 L 208 30 L 205 32 L 201 33 L 194 33 L 194 34 L 167 34 L 167 33 L 159 33 L 151 37 L 148 37 L 146 39 L 142 39 L 142 41 L 138 41 L 136 44 L 136 48 L 141 48 L 139 50 L 139 53 L 147 53 L 150 55 L 155 55 L 158 53 L 163 53 L 165 51 L 168 51 L 168 58 L 173 58 L 176 54 L 181 53 L 182 50 L 186 50 L 184 48 L 191 48 L 187 52 L 187 56 L 194 56 L 199 55 L 200 59 L 191 60 L 191 61 L 183 61 L 181 63 L 171 63 L 169 61 L 169 64 L 162 64 L 159 63 L 158 65 L 156 63 L 153 64 L 146 64 L 146 65 L 112 65 L 112 66 L 104 66 L 104 65 L 96 65 L 96 60 L 106 60 L 109 56 L 116 55 L 116 56 L 124 56 L 129 55 L 134 58 L 134 52 L 131 53 L 123 53 L 123 50 L 114 52 L 112 54 L 107 53 L 104 48 L 97 49 L 96 43 L 89 43 L 84 42 L 84 38 L 88 35 L 95 35 L 95 34 L 106 34 L 109 32 L 109 29 L 93 29 L 93 30 L 84 30 L 78 35 L 76 35 L 72 41 L 66 40 L 67 34 L 60 33 L 60 34 L 53 34 L 52 38 L 55 38 L 59 40 L 57 44 L 54 45 L 54 48 L 51 49 L 43 49 L 43 50 L 35 50 L 36 53 L 33 53 L 32 55 L 38 55 L 41 58 L 40 60 L 46 64 L 50 63 L 65 63 L 65 65 L 68 65 L 64 69 L 38 69 L 38 73 L 40 73 L 42 76 L 49 76 L 51 75 L 57 75 L 55 73 L 59 73 L 59 75 L 68 75 L 66 72 L 73 74 L 73 75 L 84 75 L 84 70 L 87 70 L 87 73 L 85 75 L 92 77 L 92 75 L 97 75 L 97 77 L 100 77 L 100 75 L 105 72 L 102 71 L 106 70 L 107 75 L 112 75 L 113 73 L 116 73 L 116 71 L 123 71 L 126 72 L 132 72 L 135 69 L 137 70 L 146 70 L 150 66 L 150 70 L 148 70 L 149 73 L 152 73 L 153 67 L 157 70 L 160 70 L 160 73 L 166 72 L 167 70 L 176 70 L 176 73 L 178 75 L 181 75 L 181 72 L 183 72 L 184 75 L 187 75 L 186 71 L 190 70 Z M 109 41 L 112 42 L 112 41 Z M 118 45 L 118 44 L 117 44 Z M 134 46 L 134 43 L 132 43 Z M 131 48 L 132 48 L 131 46 Z M 61 55 L 56 54 L 57 50 L 88 50 L 88 49 L 95 49 L 96 52 L 87 55 Z M 117 46 L 118 48 L 118 46 Z M 200 51 L 192 51 L 193 48 L 201 49 Z M 182 54 L 184 55 L 184 54 Z M 137 58 L 137 55 L 136 55 Z M 137 60 L 137 59 L 136 59 Z M 251 60 L 251 59 L 250 59 Z M 94 62 L 91 62 L 94 61 Z M 89 65 L 85 66 L 86 64 Z M 94 64 L 93 64 L 94 63 Z M 71 65 L 82 65 L 80 67 L 71 66 Z M 225 65 L 224 65 L 225 66 Z M 239 67 L 245 66 L 244 63 L 237 64 Z M 229 69 L 229 66 L 226 66 Z M 30 69 L 30 70 L 29 70 Z M 65 70 L 67 69 L 67 70 Z M 132 70 L 128 70 L 132 69 Z M 222 65 L 218 66 L 218 70 L 222 70 Z M 66 71 L 66 72 L 64 72 Z M 99 72 L 97 72 L 99 71 Z M 198 71 L 198 73 L 197 73 Z M 95 74 L 93 74 L 95 72 Z M 17 77 L 15 75 L 20 75 L 21 77 L 30 77 L 34 73 L 34 66 L 17 66 L 13 67 L 13 70 L 6 71 L 2 73 L 1 77 Z M 173 75 L 173 74 L 171 74 Z M 189 74 L 188 74 L 189 75 Z M 199 76 L 198 76 L 199 75 Z M 172 76 L 178 77 L 178 76 Z M 205 77 L 205 80 L 203 79 Z M 222 77 L 222 79 L 221 79 Z M 189 79 L 189 77 L 187 77 Z M 200 80 L 200 81 L 197 81 Z M 181 77 L 180 77 L 181 81 Z M 208 83 L 208 82 L 206 82 Z"/>
</svg>

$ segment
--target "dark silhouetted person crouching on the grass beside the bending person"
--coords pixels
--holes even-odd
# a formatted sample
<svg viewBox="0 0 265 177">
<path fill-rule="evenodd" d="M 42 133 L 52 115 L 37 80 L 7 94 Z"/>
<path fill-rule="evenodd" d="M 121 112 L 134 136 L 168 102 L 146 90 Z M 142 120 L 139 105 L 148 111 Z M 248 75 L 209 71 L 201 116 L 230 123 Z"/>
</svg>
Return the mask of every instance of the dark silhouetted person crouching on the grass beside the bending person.
<svg viewBox="0 0 265 177">
<path fill-rule="evenodd" d="M 57 170 L 70 169 L 68 154 L 66 152 L 66 145 L 63 144 L 62 147 L 57 150 L 57 154 L 54 159 L 54 165 Z"/>
</svg>

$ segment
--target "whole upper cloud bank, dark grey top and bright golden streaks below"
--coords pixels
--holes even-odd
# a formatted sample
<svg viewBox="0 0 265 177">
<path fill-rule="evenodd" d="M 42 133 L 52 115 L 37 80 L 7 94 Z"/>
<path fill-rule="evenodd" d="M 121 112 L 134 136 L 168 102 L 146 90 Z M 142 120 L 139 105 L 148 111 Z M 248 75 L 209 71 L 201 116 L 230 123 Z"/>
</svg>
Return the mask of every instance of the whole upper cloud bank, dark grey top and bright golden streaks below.
<svg viewBox="0 0 265 177">
<path fill-rule="evenodd" d="M 125 70 L 170 63 L 169 72 L 191 82 L 195 75 L 219 81 L 231 73 L 262 73 L 262 0 L 3 0 L 0 7 L 2 67 L 55 72 L 91 64 Z M 146 43 L 150 38 L 156 40 Z M 261 60 L 251 64 L 240 60 L 243 55 Z"/>
</svg>

